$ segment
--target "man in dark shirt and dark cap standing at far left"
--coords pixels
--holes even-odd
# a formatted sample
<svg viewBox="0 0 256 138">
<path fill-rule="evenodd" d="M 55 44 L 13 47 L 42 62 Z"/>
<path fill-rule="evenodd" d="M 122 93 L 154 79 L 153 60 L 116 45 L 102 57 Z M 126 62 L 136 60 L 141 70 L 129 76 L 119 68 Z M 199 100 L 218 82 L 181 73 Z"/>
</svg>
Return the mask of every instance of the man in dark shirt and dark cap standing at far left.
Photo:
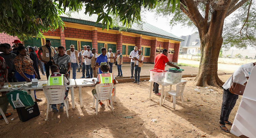
<svg viewBox="0 0 256 138">
<path fill-rule="evenodd" d="M 10 45 L 10 44 L 9 44 Z M 14 65 L 14 58 L 16 57 L 15 54 L 10 53 L 11 45 L 9 46 L 8 43 L 0 44 L 0 52 L 3 52 L 0 54 L 0 57 L 2 57 L 5 60 L 5 63 L 8 65 L 8 82 L 17 82 L 17 79 L 15 77 L 15 65 Z"/>
</svg>

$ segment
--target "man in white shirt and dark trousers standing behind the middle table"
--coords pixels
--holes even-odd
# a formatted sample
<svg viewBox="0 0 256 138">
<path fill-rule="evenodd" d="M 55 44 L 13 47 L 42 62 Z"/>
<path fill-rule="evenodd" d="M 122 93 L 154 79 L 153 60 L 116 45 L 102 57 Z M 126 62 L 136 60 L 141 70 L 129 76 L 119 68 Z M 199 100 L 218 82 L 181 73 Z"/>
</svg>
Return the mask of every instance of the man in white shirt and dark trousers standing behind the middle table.
<svg viewBox="0 0 256 138">
<path fill-rule="evenodd" d="M 91 53 L 90 49 L 91 47 L 89 45 L 86 46 L 87 50 L 83 53 L 83 58 L 85 59 L 85 70 L 86 78 L 93 78 L 93 69 L 91 68 L 91 57 L 93 57 L 93 54 Z"/>
</svg>

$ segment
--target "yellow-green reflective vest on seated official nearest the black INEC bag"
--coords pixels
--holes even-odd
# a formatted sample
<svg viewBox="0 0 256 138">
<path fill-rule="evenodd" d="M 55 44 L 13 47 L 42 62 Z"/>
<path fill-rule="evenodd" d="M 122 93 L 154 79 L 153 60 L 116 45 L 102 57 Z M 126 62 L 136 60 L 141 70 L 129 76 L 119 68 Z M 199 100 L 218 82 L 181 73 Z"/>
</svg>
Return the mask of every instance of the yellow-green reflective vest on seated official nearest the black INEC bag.
<svg viewBox="0 0 256 138">
<path fill-rule="evenodd" d="M 51 74 L 48 77 L 48 85 L 65 85 L 64 74 Z"/>
</svg>

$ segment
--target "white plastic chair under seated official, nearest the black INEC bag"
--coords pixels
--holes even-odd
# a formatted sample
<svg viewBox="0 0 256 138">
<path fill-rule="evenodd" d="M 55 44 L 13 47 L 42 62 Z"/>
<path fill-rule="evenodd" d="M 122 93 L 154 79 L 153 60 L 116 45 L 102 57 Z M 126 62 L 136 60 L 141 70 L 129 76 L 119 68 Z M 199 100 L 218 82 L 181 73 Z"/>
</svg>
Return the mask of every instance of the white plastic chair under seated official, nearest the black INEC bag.
<svg viewBox="0 0 256 138">
<path fill-rule="evenodd" d="M 69 102 L 68 97 L 64 99 L 66 86 L 63 85 L 51 85 L 51 86 L 43 86 L 44 95 L 47 99 L 47 111 L 46 111 L 46 120 L 48 119 L 49 109 L 52 110 L 52 104 L 60 104 L 64 103 L 65 110 L 67 113 L 67 117 L 69 117 Z"/>
</svg>

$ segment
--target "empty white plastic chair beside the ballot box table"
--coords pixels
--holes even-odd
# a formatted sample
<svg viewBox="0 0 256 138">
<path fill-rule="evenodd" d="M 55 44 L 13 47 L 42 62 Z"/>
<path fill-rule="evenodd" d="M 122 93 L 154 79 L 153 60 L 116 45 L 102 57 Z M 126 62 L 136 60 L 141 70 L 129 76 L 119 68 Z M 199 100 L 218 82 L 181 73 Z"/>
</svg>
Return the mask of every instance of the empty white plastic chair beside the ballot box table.
<svg viewBox="0 0 256 138">
<path fill-rule="evenodd" d="M 183 106 L 183 91 L 185 88 L 186 82 L 180 82 L 178 84 L 176 84 L 176 91 L 172 90 L 172 91 L 168 91 L 165 93 L 165 98 L 168 95 L 172 96 L 172 100 L 171 102 L 173 102 L 173 109 L 175 110 L 175 104 L 176 104 L 176 97 L 180 96 L 181 97 L 181 102 L 182 102 L 182 106 Z M 165 102 L 165 98 L 163 99 L 163 103 Z"/>
</svg>

